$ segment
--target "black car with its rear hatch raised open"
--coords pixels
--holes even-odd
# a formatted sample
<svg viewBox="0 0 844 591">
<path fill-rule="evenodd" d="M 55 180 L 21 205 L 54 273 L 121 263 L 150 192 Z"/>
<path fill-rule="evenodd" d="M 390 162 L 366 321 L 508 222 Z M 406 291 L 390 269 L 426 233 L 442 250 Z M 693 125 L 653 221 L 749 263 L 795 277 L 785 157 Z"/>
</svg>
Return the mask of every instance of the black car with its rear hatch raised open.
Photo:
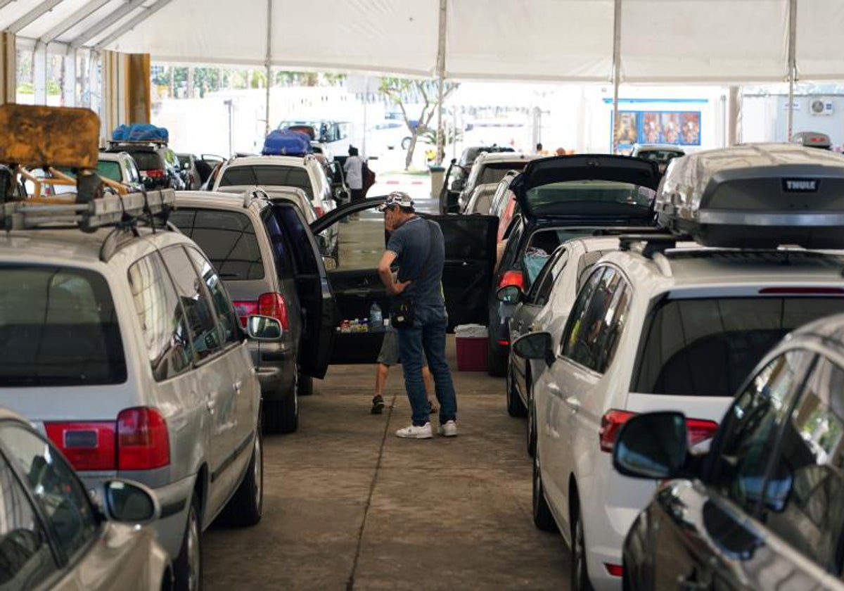
<svg viewBox="0 0 844 591">
<path fill-rule="evenodd" d="M 488 295 L 491 376 L 506 374 L 509 319 L 518 303 L 501 301 L 498 290 L 515 285 L 527 293 L 551 253 L 566 240 L 612 226 L 651 227 L 659 178 L 656 162 L 602 154 L 532 160 L 513 179 L 510 190 L 520 213 L 508 227 Z"/>
</svg>

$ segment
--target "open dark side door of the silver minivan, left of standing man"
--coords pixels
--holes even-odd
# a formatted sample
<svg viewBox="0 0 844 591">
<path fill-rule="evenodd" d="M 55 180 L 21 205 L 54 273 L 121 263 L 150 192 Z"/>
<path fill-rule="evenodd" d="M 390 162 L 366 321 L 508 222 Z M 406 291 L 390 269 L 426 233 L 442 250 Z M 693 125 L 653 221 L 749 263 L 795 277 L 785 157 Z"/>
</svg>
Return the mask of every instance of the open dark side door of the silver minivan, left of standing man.
<svg viewBox="0 0 844 591">
<path fill-rule="evenodd" d="M 296 292 L 302 309 L 299 369 L 306 376 L 325 377 L 332 350 L 337 308 L 317 239 L 292 201 L 273 201 L 273 216 L 289 241 L 294 259 Z"/>
</svg>

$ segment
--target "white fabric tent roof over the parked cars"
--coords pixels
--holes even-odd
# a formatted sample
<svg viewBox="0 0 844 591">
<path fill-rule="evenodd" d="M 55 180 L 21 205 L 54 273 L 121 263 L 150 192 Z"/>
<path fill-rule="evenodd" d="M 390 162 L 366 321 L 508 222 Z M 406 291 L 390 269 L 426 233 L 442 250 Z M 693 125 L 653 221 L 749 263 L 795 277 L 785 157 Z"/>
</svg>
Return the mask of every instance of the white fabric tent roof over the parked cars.
<svg viewBox="0 0 844 591">
<path fill-rule="evenodd" d="M 268 0 L 0 0 L 0 27 L 55 52 L 432 76 L 442 2 L 447 78 L 612 77 L 614 0 L 270 1 L 269 52 Z M 800 78 L 844 79 L 840 0 L 620 0 L 620 80 L 782 81 L 792 5 Z"/>
</svg>

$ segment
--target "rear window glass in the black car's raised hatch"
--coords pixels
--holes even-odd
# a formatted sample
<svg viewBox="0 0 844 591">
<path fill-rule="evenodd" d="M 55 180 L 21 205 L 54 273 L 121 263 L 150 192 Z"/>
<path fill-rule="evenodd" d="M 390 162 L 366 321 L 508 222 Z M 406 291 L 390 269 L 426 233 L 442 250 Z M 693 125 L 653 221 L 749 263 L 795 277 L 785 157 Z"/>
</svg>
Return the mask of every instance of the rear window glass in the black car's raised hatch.
<svg viewBox="0 0 844 591">
<path fill-rule="evenodd" d="M 527 190 L 534 215 L 650 215 L 656 193 L 648 187 L 615 181 L 553 182 Z"/>
</svg>

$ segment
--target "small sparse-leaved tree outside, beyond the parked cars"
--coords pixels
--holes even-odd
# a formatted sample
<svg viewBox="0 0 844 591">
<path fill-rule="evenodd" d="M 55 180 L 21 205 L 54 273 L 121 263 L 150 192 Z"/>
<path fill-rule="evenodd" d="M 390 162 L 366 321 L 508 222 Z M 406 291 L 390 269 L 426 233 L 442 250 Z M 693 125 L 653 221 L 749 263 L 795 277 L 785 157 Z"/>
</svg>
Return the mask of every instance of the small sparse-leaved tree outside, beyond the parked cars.
<svg viewBox="0 0 844 591">
<path fill-rule="evenodd" d="M 457 83 L 443 81 L 443 100 L 446 100 L 458 86 Z M 410 163 L 414 160 L 416 141 L 420 135 L 430 131 L 430 122 L 436 116 L 437 109 L 440 108 L 440 81 L 438 79 L 382 78 L 380 91 L 402 111 L 404 124 L 410 132 L 408 154 L 404 157 L 404 170 L 408 170 Z M 419 111 L 418 117 L 413 117 L 415 113 L 408 113 L 408 105 L 417 102 L 421 103 L 422 110 Z M 440 156 L 437 160 L 440 160 Z"/>
</svg>

